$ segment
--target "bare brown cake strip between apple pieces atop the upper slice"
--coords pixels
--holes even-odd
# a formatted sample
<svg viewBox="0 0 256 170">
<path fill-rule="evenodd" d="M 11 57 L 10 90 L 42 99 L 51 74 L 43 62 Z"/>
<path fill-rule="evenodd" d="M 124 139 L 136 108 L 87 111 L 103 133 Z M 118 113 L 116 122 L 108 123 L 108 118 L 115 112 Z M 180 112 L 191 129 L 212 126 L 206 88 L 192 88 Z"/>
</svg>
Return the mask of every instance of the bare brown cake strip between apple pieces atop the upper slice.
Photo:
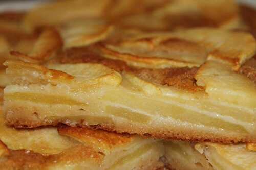
<svg viewBox="0 0 256 170">
<path fill-rule="evenodd" d="M 188 68 L 164 68 L 151 69 L 139 68 L 127 65 L 124 61 L 104 58 L 88 47 L 72 48 L 60 54 L 51 62 L 57 63 L 99 63 L 118 72 L 131 72 L 139 78 L 160 85 L 175 86 L 180 89 L 196 92 L 203 90 L 203 87 L 196 85 L 194 76 L 197 67 Z"/>
</svg>

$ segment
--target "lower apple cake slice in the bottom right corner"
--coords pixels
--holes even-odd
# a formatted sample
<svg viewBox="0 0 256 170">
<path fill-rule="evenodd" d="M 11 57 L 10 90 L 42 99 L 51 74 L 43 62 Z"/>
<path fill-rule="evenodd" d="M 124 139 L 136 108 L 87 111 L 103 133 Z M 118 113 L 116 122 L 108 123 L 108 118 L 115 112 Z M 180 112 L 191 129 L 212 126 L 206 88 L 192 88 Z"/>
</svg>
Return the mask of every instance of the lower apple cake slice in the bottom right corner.
<svg viewBox="0 0 256 170">
<path fill-rule="evenodd" d="M 248 150 L 244 143 L 168 141 L 164 145 L 166 162 L 176 170 L 253 170 L 256 166 L 256 150 Z"/>
</svg>

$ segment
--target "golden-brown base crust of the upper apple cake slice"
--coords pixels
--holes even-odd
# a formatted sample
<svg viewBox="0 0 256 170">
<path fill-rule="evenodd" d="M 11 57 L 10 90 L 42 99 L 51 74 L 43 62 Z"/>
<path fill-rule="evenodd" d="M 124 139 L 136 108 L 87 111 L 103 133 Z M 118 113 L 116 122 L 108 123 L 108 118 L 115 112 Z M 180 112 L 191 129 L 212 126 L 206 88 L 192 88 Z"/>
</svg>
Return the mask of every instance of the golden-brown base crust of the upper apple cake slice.
<svg viewBox="0 0 256 170">
<path fill-rule="evenodd" d="M 61 114 L 61 113 L 60 113 Z M 218 131 L 218 133 L 210 132 L 209 129 L 191 129 L 189 127 L 181 128 L 174 126 L 170 128 L 170 124 L 150 123 L 140 124 L 131 123 L 126 120 L 115 121 L 115 123 L 94 123 L 90 124 L 88 120 L 81 116 L 71 117 L 45 117 L 41 120 L 38 113 L 28 114 L 26 108 L 16 107 L 15 111 L 9 110 L 6 113 L 6 124 L 15 128 L 34 128 L 39 126 L 57 126 L 59 123 L 66 124 L 72 127 L 90 127 L 93 129 L 103 129 L 117 133 L 138 134 L 145 138 L 153 137 L 157 139 L 172 139 L 172 140 L 187 140 L 191 142 L 221 142 L 221 143 L 237 143 L 237 142 L 252 142 L 256 143 L 256 138 L 247 134 L 227 133 Z M 171 130 L 169 130 L 171 129 Z M 200 131 L 200 133 L 198 133 Z"/>
</svg>

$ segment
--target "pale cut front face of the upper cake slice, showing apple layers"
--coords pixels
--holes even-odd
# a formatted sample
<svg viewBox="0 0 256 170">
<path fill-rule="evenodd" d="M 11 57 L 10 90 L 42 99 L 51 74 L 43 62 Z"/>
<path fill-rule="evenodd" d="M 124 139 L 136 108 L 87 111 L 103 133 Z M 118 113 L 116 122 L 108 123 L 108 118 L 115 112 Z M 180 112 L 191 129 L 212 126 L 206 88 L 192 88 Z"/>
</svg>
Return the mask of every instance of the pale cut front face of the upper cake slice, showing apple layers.
<svg viewBox="0 0 256 170">
<path fill-rule="evenodd" d="M 217 61 L 197 71 L 197 83 L 205 89 L 194 92 L 94 63 L 53 64 L 51 69 L 20 61 L 6 65 L 14 83 L 4 90 L 4 109 L 7 123 L 15 127 L 62 122 L 160 138 L 256 139 L 255 84 Z"/>
</svg>

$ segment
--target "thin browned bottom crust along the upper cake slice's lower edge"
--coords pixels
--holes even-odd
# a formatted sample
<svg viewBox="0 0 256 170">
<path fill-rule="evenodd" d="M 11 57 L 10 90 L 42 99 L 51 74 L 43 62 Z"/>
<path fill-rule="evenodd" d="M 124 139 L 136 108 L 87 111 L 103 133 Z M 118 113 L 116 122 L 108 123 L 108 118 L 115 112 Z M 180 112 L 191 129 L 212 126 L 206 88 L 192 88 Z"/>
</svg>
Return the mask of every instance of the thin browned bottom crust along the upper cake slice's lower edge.
<svg viewBox="0 0 256 170">
<path fill-rule="evenodd" d="M 21 111 L 21 110 L 20 110 Z M 20 112 L 22 114 L 22 111 Z M 237 135 L 237 134 L 225 134 L 220 135 L 214 132 L 209 132 L 208 130 L 201 130 L 201 133 L 198 133 L 198 130 L 191 129 L 182 129 L 180 127 L 173 127 L 172 130 L 166 130 L 166 127 L 161 127 L 159 125 L 133 125 L 130 126 L 127 123 L 120 123 L 118 126 L 111 124 L 101 124 L 101 125 L 90 125 L 86 120 L 74 120 L 70 118 L 60 118 L 54 119 L 51 121 L 48 120 L 39 120 L 33 119 L 29 120 L 29 117 L 26 120 L 15 119 L 8 115 L 6 117 L 6 124 L 13 126 L 15 128 L 34 128 L 45 125 L 57 126 L 58 123 L 63 123 L 68 126 L 76 127 L 90 127 L 93 129 L 102 129 L 111 132 L 117 133 L 127 133 L 127 134 L 138 134 L 145 138 L 152 137 L 155 139 L 166 139 L 166 140 L 186 140 L 190 142 L 219 142 L 219 143 L 237 143 L 237 142 L 251 142 L 256 143 L 255 138 L 251 138 L 248 135 Z"/>
</svg>

